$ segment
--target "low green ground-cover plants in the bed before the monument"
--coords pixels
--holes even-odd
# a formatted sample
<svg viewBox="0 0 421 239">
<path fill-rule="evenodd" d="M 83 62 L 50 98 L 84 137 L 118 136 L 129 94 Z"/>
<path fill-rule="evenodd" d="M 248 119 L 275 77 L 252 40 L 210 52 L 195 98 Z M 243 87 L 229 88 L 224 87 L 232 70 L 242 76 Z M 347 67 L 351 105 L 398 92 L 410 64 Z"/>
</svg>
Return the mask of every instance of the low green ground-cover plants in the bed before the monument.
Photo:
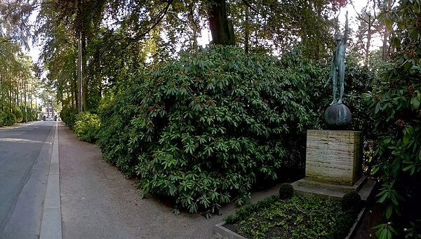
<svg viewBox="0 0 421 239">
<path fill-rule="evenodd" d="M 326 198 L 269 197 L 229 215 L 225 227 L 246 238 L 345 238 L 358 211 Z"/>
</svg>

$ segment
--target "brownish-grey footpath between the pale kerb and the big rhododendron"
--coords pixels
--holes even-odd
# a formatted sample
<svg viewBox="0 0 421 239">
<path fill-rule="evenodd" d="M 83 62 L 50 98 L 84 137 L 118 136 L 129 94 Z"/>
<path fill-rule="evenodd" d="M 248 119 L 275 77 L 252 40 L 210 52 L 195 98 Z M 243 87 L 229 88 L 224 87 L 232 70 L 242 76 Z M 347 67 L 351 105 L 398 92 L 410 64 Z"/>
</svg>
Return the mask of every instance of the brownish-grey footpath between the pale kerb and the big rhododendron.
<svg viewBox="0 0 421 239">
<path fill-rule="evenodd" d="M 63 238 L 213 238 L 213 226 L 237 209 L 206 220 L 200 214 L 175 216 L 171 205 L 140 199 L 134 181 L 102 160 L 100 148 L 81 142 L 58 123 Z M 253 194 L 253 201 L 277 187 Z"/>
</svg>

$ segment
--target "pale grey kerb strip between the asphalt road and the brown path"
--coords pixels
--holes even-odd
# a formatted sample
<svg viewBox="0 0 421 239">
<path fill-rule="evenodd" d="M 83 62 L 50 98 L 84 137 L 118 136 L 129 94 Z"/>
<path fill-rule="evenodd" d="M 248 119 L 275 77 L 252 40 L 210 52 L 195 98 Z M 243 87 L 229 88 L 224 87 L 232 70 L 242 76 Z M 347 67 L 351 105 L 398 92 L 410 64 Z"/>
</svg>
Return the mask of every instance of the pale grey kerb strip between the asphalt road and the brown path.
<svg viewBox="0 0 421 239">
<path fill-rule="evenodd" d="M 58 154 L 58 122 L 55 122 L 53 151 L 48 171 L 46 199 L 41 220 L 39 239 L 62 239 L 60 203 L 60 165 Z"/>
</svg>

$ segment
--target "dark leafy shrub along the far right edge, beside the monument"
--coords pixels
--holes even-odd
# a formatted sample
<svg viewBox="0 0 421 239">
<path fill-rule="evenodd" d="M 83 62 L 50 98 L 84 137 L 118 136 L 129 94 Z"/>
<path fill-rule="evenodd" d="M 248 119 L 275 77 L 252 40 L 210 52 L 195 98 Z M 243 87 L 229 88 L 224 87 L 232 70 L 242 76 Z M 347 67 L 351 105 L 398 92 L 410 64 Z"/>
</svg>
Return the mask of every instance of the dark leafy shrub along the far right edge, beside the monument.
<svg viewBox="0 0 421 239">
<path fill-rule="evenodd" d="M 370 95 L 378 136 L 375 172 L 382 179 L 377 202 L 385 206 L 387 219 L 377 227 L 379 238 L 421 237 L 412 226 L 421 220 L 421 41 L 420 21 L 413 18 L 420 14 L 418 4 L 401 1 L 384 16 L 389 28 L 397 24 L 396 51 Z"/>
</svg>

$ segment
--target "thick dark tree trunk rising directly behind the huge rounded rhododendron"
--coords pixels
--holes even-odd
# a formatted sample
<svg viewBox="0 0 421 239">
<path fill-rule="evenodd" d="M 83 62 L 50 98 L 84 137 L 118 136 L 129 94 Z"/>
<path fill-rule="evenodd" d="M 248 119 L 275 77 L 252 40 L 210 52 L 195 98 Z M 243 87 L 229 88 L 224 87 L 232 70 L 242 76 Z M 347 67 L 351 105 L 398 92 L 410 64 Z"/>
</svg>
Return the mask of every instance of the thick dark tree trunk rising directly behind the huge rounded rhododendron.
<svg viewBox="0 0 421 239">
<path fill-rule="evenodd" d="M 227 19 L 226 0 L 211 0 L 209 9 L 209 28 L 212 43 L 234 45 L 234 27 Z"/>
</svg>

